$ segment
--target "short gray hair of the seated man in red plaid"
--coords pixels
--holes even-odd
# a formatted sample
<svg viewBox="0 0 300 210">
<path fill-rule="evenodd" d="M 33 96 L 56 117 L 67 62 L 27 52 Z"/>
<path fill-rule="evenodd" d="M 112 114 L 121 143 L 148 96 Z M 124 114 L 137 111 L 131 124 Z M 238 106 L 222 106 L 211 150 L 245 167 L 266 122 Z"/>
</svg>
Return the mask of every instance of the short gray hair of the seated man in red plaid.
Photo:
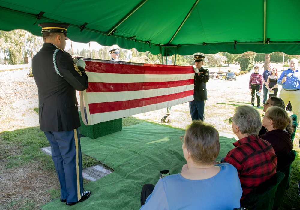
<svg viewBox="0 0 300 210">
<path fill-rule="evenodd" d="M 232 122 L 237 125 L 241 133 L 246 136 L 258 135 L 262 127 L 259 112 L 255 108 L 247 105 L 236 107 Z"/>
</svg>

